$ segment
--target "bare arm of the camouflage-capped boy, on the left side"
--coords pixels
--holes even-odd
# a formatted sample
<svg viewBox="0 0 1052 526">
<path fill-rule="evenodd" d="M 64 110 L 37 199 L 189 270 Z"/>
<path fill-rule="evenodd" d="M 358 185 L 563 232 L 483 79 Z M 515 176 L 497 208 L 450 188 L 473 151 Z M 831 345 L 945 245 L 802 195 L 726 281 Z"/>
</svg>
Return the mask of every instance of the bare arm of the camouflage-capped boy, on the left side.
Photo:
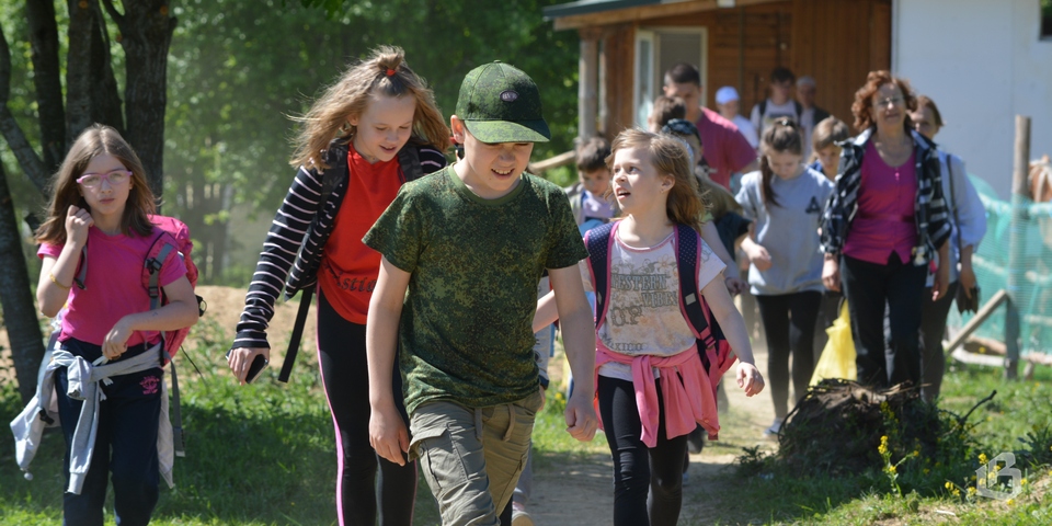
<svg viewBox="0 0 1052 526">
<path fill-rule="evenodd" d="M 409 431 L 398 414 L 391 393 L 391 371 L 398 344 L 398 321 L 411 274 L 380 260 L 380 275 L 369 301 L 368 322 L 365 325 L 365 348 L 369 367 L 369 444 L 376 453 L 399 465 L 405 465 L 409 451 Z"/>
</svg>

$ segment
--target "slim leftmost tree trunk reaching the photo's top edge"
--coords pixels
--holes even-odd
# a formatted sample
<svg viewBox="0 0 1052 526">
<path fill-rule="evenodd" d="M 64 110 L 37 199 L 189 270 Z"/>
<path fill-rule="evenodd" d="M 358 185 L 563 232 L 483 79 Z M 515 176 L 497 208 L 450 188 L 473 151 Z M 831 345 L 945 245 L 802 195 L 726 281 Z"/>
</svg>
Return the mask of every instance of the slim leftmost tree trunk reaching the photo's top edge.
<svg viewBox="0 0 1052 526">
<path fill-rule="evenodd" d="M 25 2 L 25 12 L 30 25 L 33 87 L 36 89 L 44 169 L 54 173 L 66 157 L 66 110 L 59 72 L 55 0 L 30 0 Z"/>
</svg>

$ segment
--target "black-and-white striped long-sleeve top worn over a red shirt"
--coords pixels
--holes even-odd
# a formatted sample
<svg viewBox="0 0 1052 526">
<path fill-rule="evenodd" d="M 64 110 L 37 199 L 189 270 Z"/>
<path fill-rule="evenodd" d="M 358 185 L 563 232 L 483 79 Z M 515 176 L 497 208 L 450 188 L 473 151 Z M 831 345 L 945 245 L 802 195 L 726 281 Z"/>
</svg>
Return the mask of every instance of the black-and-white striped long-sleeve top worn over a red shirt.
<svg viewBox="0 0 1052 526">
<path fill-rule="evenodd" d="M 416 148 L 420 165 L 424 173 L 432 173 L 446 165 L 446 158 L 431 146 Z M 347 146 L 333 144 L 325 155 L 330 170 L 342 162 L 344 172 L 347 164 Z M 405 174 L 403 173 L 403 180 Z M 237 335 L 232 348 L 270 347 L 266 341 L 266 327 L 274 317 L 274 304 L 288 283 L 288 296 L 307 286 L 313 286 L 313 271 L 307 262 L 318 256 L 324 249 L 324 242 L 332 231 L 336 213 L 343 203 L 347 190 L 347 178 L 336 182 L 328 198 L 322 193 L 323 173 L 316 169 L 299 167 L 285 201 L 274 215 L 271 229 L 263 241 L 263 251 L 255 265 L 255 273 L 244 296 L 244 310 L 238 322 Z M 321 214 L 318 214 L 321 209 Z M 311 221 L 317 216 L 317 224 Z"/>
</svg>

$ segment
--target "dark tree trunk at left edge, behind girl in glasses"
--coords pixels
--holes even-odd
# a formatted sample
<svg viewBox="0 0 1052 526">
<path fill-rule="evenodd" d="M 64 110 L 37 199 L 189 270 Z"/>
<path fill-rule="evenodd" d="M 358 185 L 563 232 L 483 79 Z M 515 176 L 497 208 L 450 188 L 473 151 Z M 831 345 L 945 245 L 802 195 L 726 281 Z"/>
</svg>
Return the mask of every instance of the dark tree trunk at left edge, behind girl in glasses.
<svg viewBox="0 0 1052 526">
<path fill-rule="evenodd" d="M 44 336 L 36 321 L 36 306 L 30 293 L 30 273 L 22 255 L 19 221 L 0 163 L 0 308 L 11 342 L 11 358 L 22 401 L 36 392 L 36 373 L 44 359 Z"/>
</svg>

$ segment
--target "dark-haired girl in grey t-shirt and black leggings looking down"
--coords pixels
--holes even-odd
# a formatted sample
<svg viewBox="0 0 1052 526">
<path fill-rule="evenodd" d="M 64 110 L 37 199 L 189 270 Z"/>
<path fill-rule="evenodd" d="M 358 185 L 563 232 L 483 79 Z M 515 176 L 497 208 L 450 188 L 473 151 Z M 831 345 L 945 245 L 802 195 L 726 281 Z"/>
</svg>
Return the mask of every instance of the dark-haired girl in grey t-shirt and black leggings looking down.
<svg viewBox="0 0 1052 526">
<path fill-rule="evenodd" d="M 789 412 L 789 355 L 796 400 L 808 392 L 814 370 L 814 324 L 823 290 L 817 228 L 833 183 L 803 165 L 803 134 L 788 118 L 767 127 L 759 151 L 759 171 L 742 178 L 736 199 L 753 220 L 742 250 L 767 333 L 775 422 L 765 434 L 775 435 Z"/>
</svg>

